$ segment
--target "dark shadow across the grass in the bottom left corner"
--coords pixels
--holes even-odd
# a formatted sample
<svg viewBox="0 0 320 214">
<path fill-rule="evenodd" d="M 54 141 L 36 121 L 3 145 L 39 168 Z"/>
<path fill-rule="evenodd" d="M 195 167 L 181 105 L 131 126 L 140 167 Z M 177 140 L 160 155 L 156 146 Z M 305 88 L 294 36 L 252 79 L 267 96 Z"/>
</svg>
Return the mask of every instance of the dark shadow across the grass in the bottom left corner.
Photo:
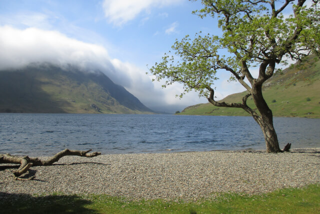
<svg viewBox="0 0 320 214">
<path fill-rule="evenodd" d="M 32 196 L 0 192 L 0 213 L 93 213 L 90 200 L 76 195 Z"/>
</svg>

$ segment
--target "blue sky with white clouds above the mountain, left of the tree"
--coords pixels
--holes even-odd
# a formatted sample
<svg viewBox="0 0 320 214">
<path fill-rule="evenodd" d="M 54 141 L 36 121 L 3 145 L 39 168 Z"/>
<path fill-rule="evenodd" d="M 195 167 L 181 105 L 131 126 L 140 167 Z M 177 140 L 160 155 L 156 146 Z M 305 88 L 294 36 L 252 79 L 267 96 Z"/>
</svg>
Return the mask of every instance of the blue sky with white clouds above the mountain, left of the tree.
<svg viewBox="0 0 320 214">
<path fill-rule="evenodd" d="M 146 73 L 176 39 L 221 34 L 216 19 L 192 15 L 201 8 L 187 0 L 0 0 L 0 70 L 31 62 L 98 69 L 150 109 L 181 111 L 207 100 L 196 92 L 177 98 L 181 84 L 162 89 Z M 218 77 L 217 100 L 244 91 L 228 73 Z"/>
</svg>

